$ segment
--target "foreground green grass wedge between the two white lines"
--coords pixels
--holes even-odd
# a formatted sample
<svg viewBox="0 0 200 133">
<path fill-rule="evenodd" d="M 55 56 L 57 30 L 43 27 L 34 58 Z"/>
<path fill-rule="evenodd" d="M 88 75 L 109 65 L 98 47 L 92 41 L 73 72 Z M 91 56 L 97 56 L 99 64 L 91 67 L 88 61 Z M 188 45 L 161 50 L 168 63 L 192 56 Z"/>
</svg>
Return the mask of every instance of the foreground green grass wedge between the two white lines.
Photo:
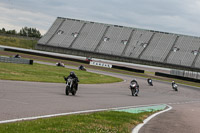
<svg viewBox="0 0 200 133">
<path fill-rule="evenodd" d="M 0 133 L 130 133 L 153 112 L 105 111 L 0 124 Z"/>
</svg>

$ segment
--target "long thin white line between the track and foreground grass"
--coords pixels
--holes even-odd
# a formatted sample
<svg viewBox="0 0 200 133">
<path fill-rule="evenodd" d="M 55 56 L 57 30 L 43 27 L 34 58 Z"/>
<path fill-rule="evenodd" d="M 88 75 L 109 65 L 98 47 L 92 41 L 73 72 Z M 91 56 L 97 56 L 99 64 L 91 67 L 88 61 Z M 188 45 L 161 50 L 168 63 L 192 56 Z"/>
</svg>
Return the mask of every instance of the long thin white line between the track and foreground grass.
<svg viewBox="0 0 200 133">
<path fill-rule="evenodd" d="M 19 118 L 19 119 L 3 120 L 3 121 L 0 121 L 0 124 L 9 123 L 9 122 L 24 121 L 24 120 L 35 120 L 35 119 L 40 119 L 40 118 L 49 118 L 49 117 L 55 117 L 55 116 L 64 116 L 64 115 L 81 114 L 81 113 L 91 113 L 91 112 L 126 109 L 126 108 L 137 108 L 137 107 L 146 107 L 146 106 L 155 106 L 155 105 L 163 105 L 163 104 L 126 106 L 126 107 L 117 107 L 117 108 L 108 108 L 108 109 L 95 109 L 95 110 L 85 110 L 85 111 L 77 111 L 77 112 L 69 112 L 69 113 L 51 114 L 51 115 L 44 115 L 44 116 L 34 116 L 34 117 L 26 117 L 26 118 Z"/>
</svg>

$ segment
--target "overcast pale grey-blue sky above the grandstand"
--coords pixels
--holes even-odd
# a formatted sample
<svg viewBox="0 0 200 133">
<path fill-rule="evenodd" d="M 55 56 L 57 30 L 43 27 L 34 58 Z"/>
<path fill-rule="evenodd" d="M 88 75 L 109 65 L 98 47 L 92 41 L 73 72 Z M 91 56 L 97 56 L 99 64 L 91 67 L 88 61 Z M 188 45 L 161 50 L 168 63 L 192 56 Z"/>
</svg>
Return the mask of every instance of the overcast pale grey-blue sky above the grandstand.
<svg viewBox="0 0 200 133">
<path fill-rule="evenodd" d="M 200 36 L 200 0 L 0 0 L 0 28 L 45 34 L 57 17 Z"/>
</svg>

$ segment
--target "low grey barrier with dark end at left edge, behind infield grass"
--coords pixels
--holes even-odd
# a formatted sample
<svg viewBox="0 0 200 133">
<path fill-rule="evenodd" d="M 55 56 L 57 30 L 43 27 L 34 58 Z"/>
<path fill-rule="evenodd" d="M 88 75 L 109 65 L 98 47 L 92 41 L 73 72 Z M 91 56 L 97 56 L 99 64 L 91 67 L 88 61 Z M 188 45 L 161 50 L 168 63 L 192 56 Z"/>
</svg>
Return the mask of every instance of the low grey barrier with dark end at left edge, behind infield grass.
<svg viewBox="0 0 200 133">
<path fill-rule="evenodd" d="M 13 58 L 13 57 L 5 57 L 0 56 L 0 62 L 6 62 L 6 63 L 17 63 L 17 64 L 33 64 L 33 60 L 29 59 L 22 59 L 22 58 Z"/>
</svg>

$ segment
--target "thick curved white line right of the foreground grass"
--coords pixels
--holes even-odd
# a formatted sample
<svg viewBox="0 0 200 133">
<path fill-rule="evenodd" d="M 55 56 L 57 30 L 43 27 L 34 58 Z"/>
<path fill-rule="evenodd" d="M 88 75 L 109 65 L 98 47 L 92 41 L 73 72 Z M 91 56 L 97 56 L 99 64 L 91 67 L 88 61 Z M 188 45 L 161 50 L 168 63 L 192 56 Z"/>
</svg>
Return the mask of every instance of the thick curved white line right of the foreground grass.
<svg viewBox="0 0 200 133">
<path fill-rule="evenodd" d="M 148 121 L 150 121 L 152 118 L 154 118 L 155 116 L 157 116 L 157 115 L 159 115 L 159 114 L 161 114 L 161 113 L 167 112 L 167 111 L 169 111 L 169 110 L 172 109 L 171 106 L 169 106 L 169 105 L 167 105 L 167 106 L 168 106 L 169 108 L 167 108 L 166 110 L 157 112 L 157 113 L 155 113 L 155 114 L 149 116 L 147 119 L 145 119 L 145 120 L 143 121 L 143 123 L 137 125 L 137 126 L 132 130 L 132 133 L 138 133 L 139 130 L 140 130 Z"/>
</svg>

